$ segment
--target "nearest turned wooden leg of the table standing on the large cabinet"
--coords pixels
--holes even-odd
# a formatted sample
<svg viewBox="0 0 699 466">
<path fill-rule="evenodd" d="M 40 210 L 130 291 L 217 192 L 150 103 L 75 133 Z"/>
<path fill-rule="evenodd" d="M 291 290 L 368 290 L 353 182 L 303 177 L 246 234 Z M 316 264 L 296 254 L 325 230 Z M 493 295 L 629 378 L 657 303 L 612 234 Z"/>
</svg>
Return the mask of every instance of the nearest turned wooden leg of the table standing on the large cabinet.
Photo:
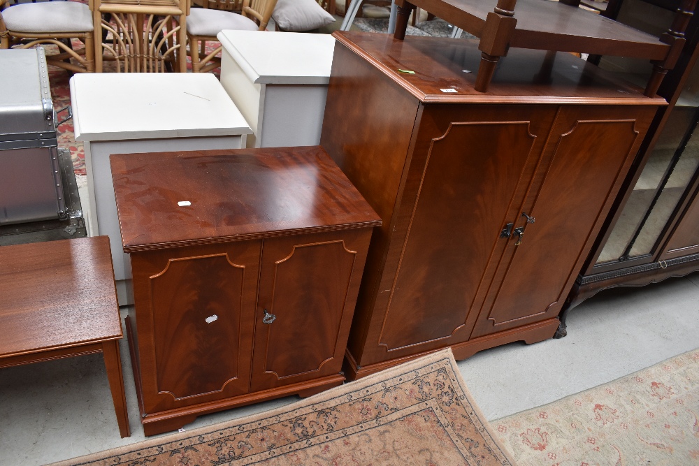
<svg viewBox="0 0 699 466">
<path fill-rule="evenodd" d="M 500 57 L 507 55 L 510 48 L 510 39 L 517 26 L 515 5 L 517 0 L 498 0 L 498 6 L 486 17 L 483 36 L 478 44 L 478 50 L 482 52 L 475 83 L 478 92 L 487 92 Z"/>
</svg>

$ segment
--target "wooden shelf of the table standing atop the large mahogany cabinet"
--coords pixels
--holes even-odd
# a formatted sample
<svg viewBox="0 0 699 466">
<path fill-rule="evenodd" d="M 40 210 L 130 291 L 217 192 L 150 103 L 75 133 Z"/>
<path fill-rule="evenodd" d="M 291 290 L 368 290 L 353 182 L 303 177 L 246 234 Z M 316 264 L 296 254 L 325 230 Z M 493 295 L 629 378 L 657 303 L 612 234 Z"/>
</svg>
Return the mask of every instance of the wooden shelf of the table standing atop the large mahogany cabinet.
<svg viewBox="0 0 699 466">
<path fill-rule="evenodd" d="M 410 3 L 481 37 L 486 17 L 498 1 L 410 0 Z M 663 59 L 668 53 L 668 45 L 655 36 L 559 1 L 518 0 L 514 17 L 517 28 L 510 45 L 516 48 L 647 59 Z"/>
</svg>

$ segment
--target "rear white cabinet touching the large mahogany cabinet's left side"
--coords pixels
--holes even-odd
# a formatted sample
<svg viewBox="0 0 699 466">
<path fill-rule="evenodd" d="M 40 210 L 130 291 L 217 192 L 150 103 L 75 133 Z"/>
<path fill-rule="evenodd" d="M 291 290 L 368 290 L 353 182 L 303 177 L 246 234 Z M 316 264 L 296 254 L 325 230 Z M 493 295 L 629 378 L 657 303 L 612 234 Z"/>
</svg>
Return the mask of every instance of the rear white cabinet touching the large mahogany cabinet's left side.
<svg viewBox="0 0 699 466">
<path fill-rule="evenodd" d="M 247 147 L 318 145 L 335 38 L 222 31 L 221 84 L 247 119 Z"/>
</svg>

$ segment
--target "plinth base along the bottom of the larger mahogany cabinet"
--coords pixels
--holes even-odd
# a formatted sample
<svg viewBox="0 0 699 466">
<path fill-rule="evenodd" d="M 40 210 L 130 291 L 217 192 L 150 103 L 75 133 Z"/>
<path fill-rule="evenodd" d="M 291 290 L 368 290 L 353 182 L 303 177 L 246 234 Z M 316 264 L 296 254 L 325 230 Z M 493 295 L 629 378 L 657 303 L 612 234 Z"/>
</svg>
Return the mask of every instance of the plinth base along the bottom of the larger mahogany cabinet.
<svg viewBox="0 0 699 466">
<path fill-rule="evenodd" d="M 454 353 L 454 359 L 456 361 L 461 361 L 462 359 L 470 358 L 478 351 L 484 349 L 489 349 L 493 347 L 498 347 L 501 344 L 507 344 L 517 341 L 524 341 L 527 344 L 538 343 L 554 336 L 556 330 L 559 328 L 559 319 L 549 319 L 546 321 L 532 323 L 531 325 L 513 328 L 512 330 L 505 330 L 504 332 L 493 333 L 493 335 L 486 335 L 484 337 L 475 338 L 469 340 L 468 342 L 462 342 L 457 344 L 452 344 L 452 352 Z M 366 377 L 369 374 L 379 372 L 380 370 L 388 369 L 394 365 L 401 363 L 406 363 L 412 359 L 425 356 L 426 354 L 432 353 L 433 351 L 439 351 L 442 347 L 435 348 L 431 351 L 424 351 L 418 354 L 411 354 L 410 356 L 404 356 L 402 358 L 391 359 L 389 361 L 381 361 L 380 363 L 369 364 L 359 366 L 354 359 L 354 356 L 349 352 L 349 349 L 345 351 L 345 365 L 343 370 L 347 374 L 347 380 L 356 380 L 361 377 Z"/>
</svg>

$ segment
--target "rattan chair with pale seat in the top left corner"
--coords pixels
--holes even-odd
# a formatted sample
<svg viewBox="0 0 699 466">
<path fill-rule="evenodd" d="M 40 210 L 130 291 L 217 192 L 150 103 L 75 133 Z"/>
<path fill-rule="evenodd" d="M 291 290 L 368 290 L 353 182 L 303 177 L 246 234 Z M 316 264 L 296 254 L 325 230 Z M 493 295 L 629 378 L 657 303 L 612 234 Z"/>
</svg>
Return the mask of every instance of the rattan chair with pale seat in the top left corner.
<svg viewBox="0 0 699 466">
<path fill-rule="evenodd" d="M 59 48 L 59 53 L 48 55 L 48 64 L 75 73 L 95 71 L 92 0 L 89 6 L 74 1 L 15 6 L 8 6 L 9 3 L 10 0 L 0 0 L 0 48 L 52 44 Z M 85 48 L 73 50 L 72 38 L 80 39 Z"/>
</svg>

